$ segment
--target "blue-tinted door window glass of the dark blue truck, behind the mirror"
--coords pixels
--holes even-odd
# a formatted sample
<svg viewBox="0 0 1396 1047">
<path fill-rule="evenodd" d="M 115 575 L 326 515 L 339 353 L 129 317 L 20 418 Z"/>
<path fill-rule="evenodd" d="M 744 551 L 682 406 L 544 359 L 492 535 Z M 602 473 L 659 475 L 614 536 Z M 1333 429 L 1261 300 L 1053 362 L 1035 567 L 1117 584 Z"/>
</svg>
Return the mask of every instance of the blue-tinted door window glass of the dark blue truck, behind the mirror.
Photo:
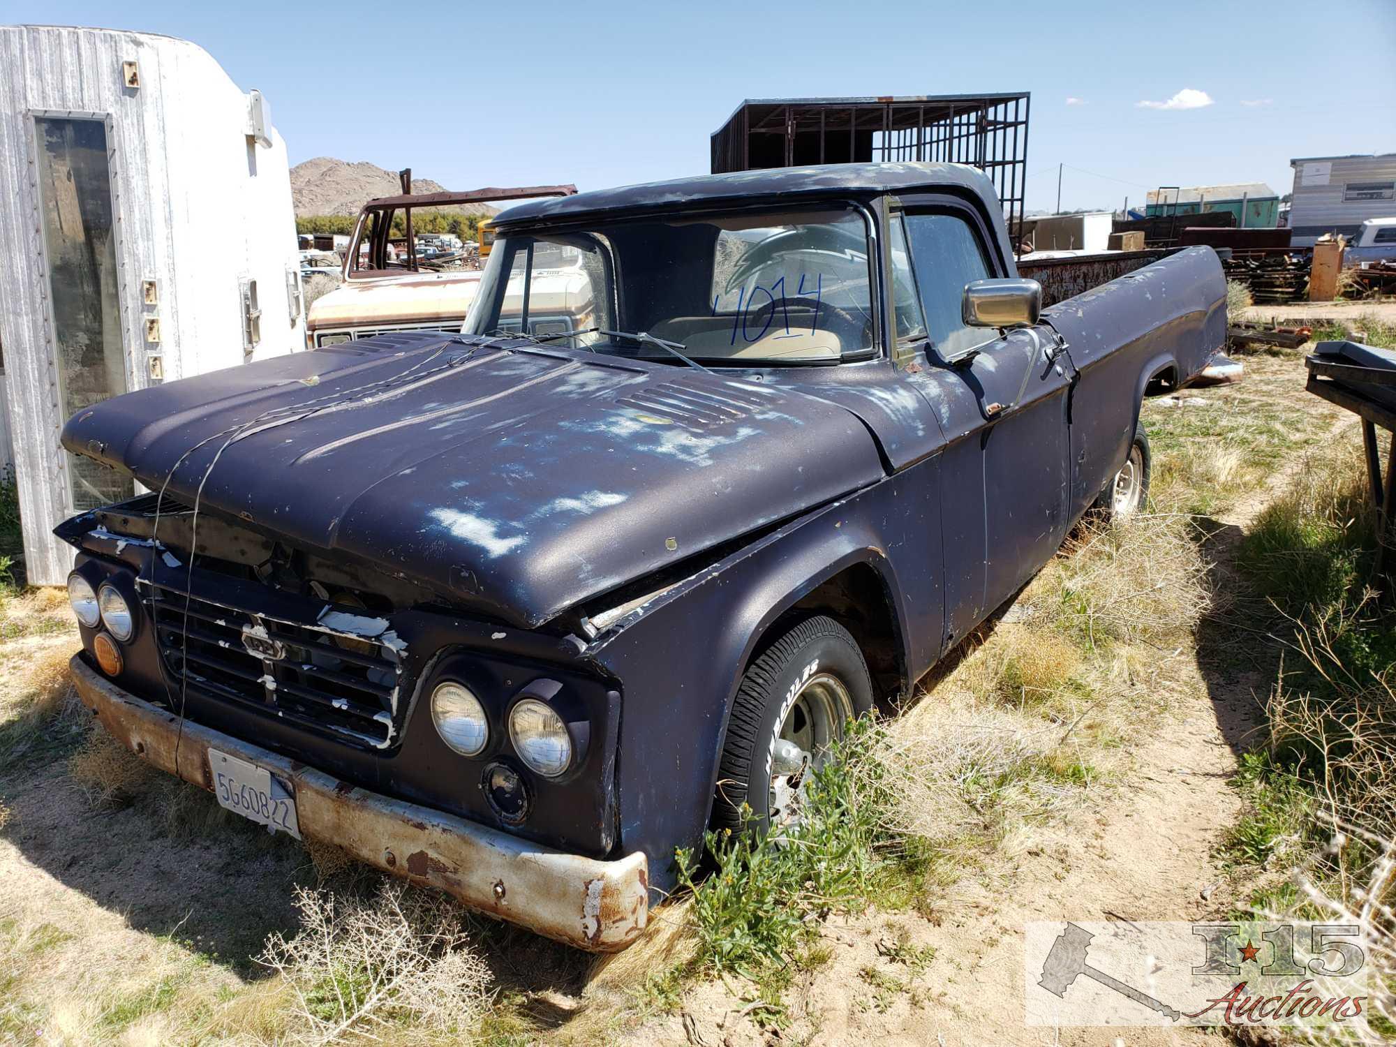
<svg viewBox="0 0 1396 1047">
<path fill-rule="evenodd" d="M 993 341 L 991 331 L 960 318 L 965 285 L 993 276 L 979 235 L 958 215 L 913 214 L 905 222 L 931 346 L 951 359 Z"/>
</svg>

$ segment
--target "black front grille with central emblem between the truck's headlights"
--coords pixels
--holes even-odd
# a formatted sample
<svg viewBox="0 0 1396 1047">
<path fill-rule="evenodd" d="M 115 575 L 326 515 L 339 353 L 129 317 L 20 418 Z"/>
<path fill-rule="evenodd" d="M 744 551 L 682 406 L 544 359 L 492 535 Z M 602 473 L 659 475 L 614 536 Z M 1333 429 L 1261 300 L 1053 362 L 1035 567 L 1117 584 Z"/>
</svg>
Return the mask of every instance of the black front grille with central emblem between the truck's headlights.
<svg viewBox="0 0 1396 1047">
<path fill-rule="evenodd" d="M 398 740 L 406 701 L 391 644 L 186 597 L 169 586 L 149 586 L 145 606 L 176 685 L 360 748 Z"/>
</svg>

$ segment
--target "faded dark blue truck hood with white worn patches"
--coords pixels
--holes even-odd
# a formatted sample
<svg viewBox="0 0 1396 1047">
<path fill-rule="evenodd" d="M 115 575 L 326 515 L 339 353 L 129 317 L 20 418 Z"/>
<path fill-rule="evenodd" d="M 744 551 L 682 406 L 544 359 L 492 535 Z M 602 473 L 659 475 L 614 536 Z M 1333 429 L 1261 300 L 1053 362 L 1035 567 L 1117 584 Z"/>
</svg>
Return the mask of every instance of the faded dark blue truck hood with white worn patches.
<svg viewBox="0 0 1396 1047">
<path fill-rule="evenodd" d="M 884 475 L 801 392 L 440 334 L 116 396 L 63 444 L 522 627 Z"/>
</svg>

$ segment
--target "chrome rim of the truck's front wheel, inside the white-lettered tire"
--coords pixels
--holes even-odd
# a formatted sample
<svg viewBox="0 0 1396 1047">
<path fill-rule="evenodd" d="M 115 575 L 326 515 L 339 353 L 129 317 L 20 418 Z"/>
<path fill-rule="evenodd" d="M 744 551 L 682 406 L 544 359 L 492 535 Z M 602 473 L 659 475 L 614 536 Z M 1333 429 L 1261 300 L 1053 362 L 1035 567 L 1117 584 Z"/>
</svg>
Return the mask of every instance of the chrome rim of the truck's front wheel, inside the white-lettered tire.
<svg viewBox="0 0 1396 1047">
<path fill-rule="evenodd" d="M 818 673 L 796 691 L 772 744 L 766 797 L 772 828 L 799 825 L 810 773 L 828 762 L 829 747 L 850 719 L 853 698 L 838 677 Z"/>
</svg>

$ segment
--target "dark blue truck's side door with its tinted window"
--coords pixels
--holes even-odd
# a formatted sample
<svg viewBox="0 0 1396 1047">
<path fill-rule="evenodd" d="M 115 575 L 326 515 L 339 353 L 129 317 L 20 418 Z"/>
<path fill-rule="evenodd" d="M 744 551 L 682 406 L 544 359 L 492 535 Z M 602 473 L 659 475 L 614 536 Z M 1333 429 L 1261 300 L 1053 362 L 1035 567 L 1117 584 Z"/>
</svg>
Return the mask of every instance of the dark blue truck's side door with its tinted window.
<svg viewBox="0 0 1396 1047">
<path fill-rule="evenodd" d="M 969 208 L 906 202 L 900 222 L 924 311 L 919 383 L 946 438 L 941 468 L 945 642 L 959 641 L 1065 536 L 1069 362 L 1046 325 L 995 332 L 962 318 L 965 285 L 1009 275 Z M 892 230 L 893 248 L 898 230 Z"/>
</svg>

